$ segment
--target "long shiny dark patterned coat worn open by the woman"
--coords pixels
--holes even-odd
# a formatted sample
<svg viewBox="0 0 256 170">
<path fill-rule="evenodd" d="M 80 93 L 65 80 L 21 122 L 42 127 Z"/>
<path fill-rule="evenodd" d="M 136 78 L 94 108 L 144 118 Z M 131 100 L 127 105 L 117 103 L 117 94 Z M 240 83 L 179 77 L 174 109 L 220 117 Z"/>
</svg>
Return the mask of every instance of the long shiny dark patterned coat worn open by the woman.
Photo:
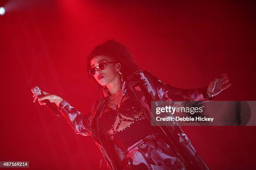
<svg viewBox="0 0 256 170">
<path fill-rule="evenodd" d="M 190 101 L 209 101 L 205 96 L 207 87 L 197 89 L 179 89 L 169 84 L 161 82 L 147 70 L 139 70 L 128 77 L 123 89 L 133 91 L 136 99 L 148 110 L 146 118 L 151 121 L 151 101 L 165 100 L 190 100 Z M 167 95 L 165 95 L 167 93 Z M 166 97 L 168 96 L 168 97 Z M 66 100 L 60 103 L 58 110 L 64 115 L 75 133 L 87 136 L 91 135 L 96 145 L 100 148 L 105 161 L 111 170 L 117 170 L 113 163 L 113 158 L 118 157 L 119 153 L 113 155 L 113 148 L 118 150 L 118 146 L 110 142 L 107 134 L 99 131 L 98 120 L 102 115 L 106 101 L 108 100 L 107 88 L 104 88 L 103 95 L 92 106 L 89 115 L 82 115 L 72 107 Z M 157 123 L 157 122 L 156 122 Z M 183 158 L 189 170 L 207 170 L 207 166 L 197 154 L 189 138 L 179 125 L 176 126 L 154 126 L 156 130 L 169 140 L 175 147 L 176 152 Z"/>
</svg>

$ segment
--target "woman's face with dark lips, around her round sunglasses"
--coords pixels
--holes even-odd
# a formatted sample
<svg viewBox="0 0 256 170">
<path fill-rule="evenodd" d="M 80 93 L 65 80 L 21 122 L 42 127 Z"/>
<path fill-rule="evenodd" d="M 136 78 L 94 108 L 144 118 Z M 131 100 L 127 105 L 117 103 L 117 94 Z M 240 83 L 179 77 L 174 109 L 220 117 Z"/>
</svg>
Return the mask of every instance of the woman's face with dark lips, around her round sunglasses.
<svg viewBox="0 0 256 170">
<path fill-rule="evenodd" d="M 101 62 L 113 62 L 111 57 L 104 55 L 97 55 L 91 60 L 91 68 L 97 67 Z M 120 78 L 119 73 L 116 71 L 120 67 L 120 63 L 107 63 L 104 70 L 96 68 L 96 74 L 93 75 L 95 80 L 102 86 L 108 85 L 114 82 L 117 78 Z"/>
</svg>

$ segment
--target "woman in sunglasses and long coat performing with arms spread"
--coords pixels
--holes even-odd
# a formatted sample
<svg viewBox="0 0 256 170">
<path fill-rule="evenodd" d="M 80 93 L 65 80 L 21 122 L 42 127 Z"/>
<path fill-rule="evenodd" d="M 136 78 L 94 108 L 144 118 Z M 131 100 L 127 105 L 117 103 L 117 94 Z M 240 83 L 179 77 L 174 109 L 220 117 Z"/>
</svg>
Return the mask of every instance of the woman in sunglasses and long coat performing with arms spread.
<svg viewBox="0 0 256 170">
<path fill-rule="evenodd" d="M 140 70 L 127 48 L 108 40 L 88 57 L 88 72 L 102 96 L 90 115 L 82 115 L 66 100 L 44 92 L 70 123 L 75 133 L 91 135 L 111 170 L 205 170 L 203 160 L 180 126 L 151 126 L 151 100 L 210 101 L 230 87 L 227 74 L 208 87 L 191 90 L 164 84 Z M 37 97 L 33 96 L 36 101 Z"/>
</svg>

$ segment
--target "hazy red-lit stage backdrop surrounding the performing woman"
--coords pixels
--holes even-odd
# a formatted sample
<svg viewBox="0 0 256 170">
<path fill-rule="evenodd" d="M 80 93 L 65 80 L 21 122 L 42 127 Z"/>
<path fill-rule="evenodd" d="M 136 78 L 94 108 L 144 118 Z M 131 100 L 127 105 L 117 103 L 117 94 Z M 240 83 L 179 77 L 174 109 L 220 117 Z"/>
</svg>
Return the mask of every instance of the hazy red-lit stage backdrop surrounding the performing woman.
<svg viewBox="0 0 256 170">
<path fill-rule="evenodd" d="M 253 2 L 1 0 L 0 161 L 30 169 L 97 169 L 91 137 L 33 103 L 33 85 L 60 95 L 82 113 L 99 97 L 86 57 L 115 38 L 163 82 L 208 85 L 228 73 L 216 100 L 255 100 L 256 6 Z M 184 127 L 212 170 L 253 169 L 256 127 Z"/>
</svg>

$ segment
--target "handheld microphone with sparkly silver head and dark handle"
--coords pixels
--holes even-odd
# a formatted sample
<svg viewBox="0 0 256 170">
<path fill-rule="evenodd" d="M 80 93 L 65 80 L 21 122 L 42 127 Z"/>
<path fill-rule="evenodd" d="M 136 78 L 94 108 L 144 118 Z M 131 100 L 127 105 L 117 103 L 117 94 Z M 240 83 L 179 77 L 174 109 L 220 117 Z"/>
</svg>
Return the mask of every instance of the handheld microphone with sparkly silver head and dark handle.
<svg viewBox="0 0 256 170">
<path fill-rule="evenodd" d="M 36 95 L 37 97 L 42 97 L 44 96 L 44 93 L 42 92 L 42 90 L 35 86 L 35 87 L 32 87 L 31 88 L 31 92 Z M 59 112 L 58 110 L 58 107 L 54 104 L 54 103 L 51 103 L 48 99 L 45 99 L 45 100 L 42 100 L 43 102 L 46 103 L 46 106 L 51 110 L 51 112 L 53 112 L 57 117 L 61 118 L 62 115 L 61 113 Z"/>
</svg>

